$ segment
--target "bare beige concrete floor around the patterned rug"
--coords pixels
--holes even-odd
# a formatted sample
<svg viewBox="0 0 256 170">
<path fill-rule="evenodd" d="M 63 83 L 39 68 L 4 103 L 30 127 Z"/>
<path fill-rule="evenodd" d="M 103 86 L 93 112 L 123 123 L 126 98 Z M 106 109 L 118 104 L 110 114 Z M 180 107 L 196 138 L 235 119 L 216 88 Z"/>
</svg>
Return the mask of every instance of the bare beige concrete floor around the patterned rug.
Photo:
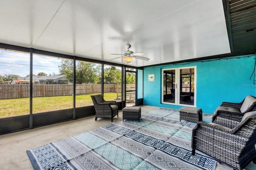
<svg viewBox="0 0 256 170">
<path fill-rule="evenodd" d="M 158 108 L 144 105 L 141 107 L 142 114 Z M 113 122 L 122 121 L 122 110 L 119 111 L 118 115 L 119 117 L 115 117 Z M 1 135 L 0 170 L 33 170 L 34 168 L 26 154 L 26 150 L 34 149 L 50 142 L 62 140 L 111 123 L 110 119 L 98 118 L 95 121 L 94 118 L 94 116 L 86 117 L 75 121 L 67 121 Z M 246 169 L 256 170 L 256 164 L 251 162 Z M 232 168 L 224 164 L 217 164 L 216 170 L 232 170 Z"/>
</svg>

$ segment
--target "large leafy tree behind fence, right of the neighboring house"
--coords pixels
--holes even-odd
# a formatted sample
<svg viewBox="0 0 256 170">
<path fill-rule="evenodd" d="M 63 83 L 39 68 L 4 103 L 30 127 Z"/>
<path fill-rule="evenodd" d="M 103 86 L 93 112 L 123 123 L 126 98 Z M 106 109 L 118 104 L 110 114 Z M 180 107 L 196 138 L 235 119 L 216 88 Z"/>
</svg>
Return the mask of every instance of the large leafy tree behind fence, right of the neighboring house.
<svg viewBox="0 0 256 170">
<path fill-rule="evenodd" d="M 60 65 L 58 65 L 61 75 L 65 75 L 69 82 L 73 81 L 73 61 L 62 59 Z M 101 67 L 98 64 L 77 61 L 76 62 L 76 83 L 99 83 L 99 77 L 101 73 Z"/>
</svg>

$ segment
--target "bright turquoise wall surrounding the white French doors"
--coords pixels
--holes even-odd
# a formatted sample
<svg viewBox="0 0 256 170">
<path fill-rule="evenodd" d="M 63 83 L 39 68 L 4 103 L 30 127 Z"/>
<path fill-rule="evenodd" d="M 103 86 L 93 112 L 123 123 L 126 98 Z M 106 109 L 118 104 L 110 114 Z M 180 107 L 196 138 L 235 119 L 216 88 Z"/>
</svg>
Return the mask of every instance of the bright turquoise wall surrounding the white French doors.
<svg viewBox="0 0 256 170">
<path fill-rule="evenodd" d="M 180 109 L 182 106 L 161 104 L 162 69 L 196 66 L 196 107 L 213 113 L 223 101 L 239 103 L 246 95 L 256 96 L 253 73 L 255 55 L 238 56 L 212 61 L 180 63 L 144 68 L 144 105 Z M 155 74 L 155 81 L 148 81 Z M 251 79 L 250 76 L 252 75 Z"/>
</svg>

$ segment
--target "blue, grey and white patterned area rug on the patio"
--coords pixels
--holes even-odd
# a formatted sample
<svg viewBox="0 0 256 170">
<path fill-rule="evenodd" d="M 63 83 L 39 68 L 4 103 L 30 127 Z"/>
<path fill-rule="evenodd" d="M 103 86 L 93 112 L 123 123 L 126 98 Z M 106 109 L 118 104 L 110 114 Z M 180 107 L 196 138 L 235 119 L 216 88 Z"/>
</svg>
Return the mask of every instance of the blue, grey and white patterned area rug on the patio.
<svg viewBox="0 0 256 170">
<path fill-rule="evenodd" d="M 196 152 L 196 123 L 179 121 L 179 111 L 156 109 L 138 121 L 119 121 L 27 150 L 34 169 L 214 170 L 216 161 Z"/>
</svg>

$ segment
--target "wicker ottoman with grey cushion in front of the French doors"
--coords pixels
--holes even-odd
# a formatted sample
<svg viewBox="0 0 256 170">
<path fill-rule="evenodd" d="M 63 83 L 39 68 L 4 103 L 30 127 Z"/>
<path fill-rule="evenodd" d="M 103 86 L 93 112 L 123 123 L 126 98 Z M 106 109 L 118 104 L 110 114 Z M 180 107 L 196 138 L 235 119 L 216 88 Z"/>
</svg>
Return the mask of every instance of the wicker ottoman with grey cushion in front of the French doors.
<svg viewBox="0 0 256 170">
<path fill-rule="evenodd" d="M 180 109 L 180 121 L 181 120 L 192 122 L 202 121 L 202 109 L 195 107 L 182 107 Z"/>
</svg>

